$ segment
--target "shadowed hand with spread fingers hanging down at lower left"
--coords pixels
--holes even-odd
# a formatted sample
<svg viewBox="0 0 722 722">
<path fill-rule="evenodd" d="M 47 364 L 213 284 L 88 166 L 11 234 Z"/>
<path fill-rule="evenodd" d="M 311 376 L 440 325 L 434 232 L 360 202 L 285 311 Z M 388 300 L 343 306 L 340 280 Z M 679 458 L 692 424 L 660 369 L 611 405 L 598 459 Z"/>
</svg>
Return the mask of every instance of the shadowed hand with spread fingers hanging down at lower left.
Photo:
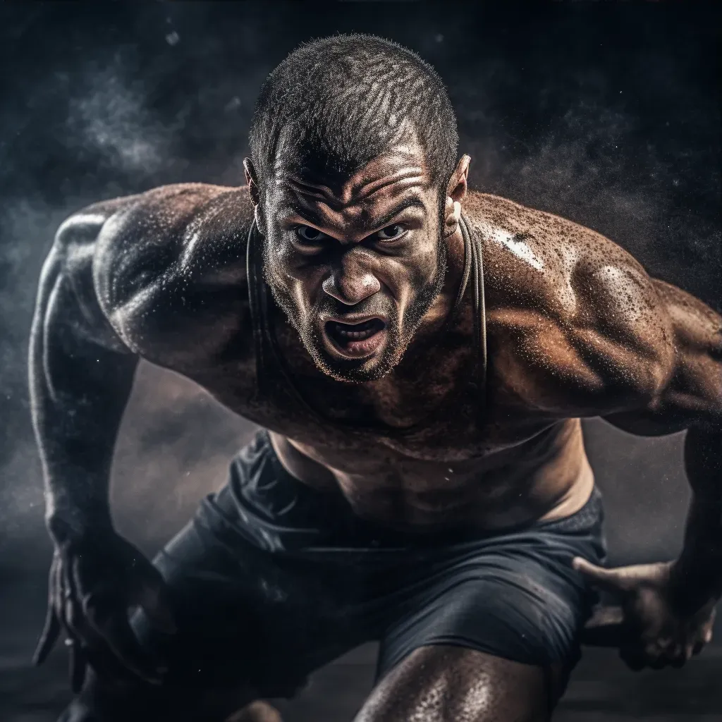
<svg viewBox="0 0 722 722">
<path fill-rule="evenodd" d="M 43 664 L 61 632 L 70 651 L 73 692 L 79 692 L 87 661 L 96 668 L 119 662 L 137 677 L 160 683 L 162 669 L 136 639 L 129 608 L 142 606 L 151 622 L 175 631 L 160 572 L 112 528 L 58 543 L 48 583 L 48 614 L 33 661 Z"/>
</svg>

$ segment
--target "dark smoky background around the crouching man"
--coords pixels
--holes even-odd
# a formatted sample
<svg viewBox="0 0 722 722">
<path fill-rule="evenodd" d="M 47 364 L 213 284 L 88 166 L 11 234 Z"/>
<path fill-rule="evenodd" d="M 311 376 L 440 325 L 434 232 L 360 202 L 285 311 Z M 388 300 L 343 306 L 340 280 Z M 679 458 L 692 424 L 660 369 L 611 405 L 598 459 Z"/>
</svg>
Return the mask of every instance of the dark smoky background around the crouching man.
<svg viewBox="0 0 722 722">
<path fill-rule="evenodd" d="M 164 183 L 240 184 L 266 74 L 304 40 L 370 32 L 445 79 L 473 186 L 604 233 L 720 310 L 720 20 L 711 5 L 661 3 L 1 6 L 0 718 L 50 721 L 67 699 L 60 653 L 28 666 L 51 549 L 25 368 L 38 273 L 64 217 Z M 143 365 L 116 454 L 119 528 L 155 550 L 252 431 Z M 599 421 L 586 435 L 612 561 L 673 556 L 687 503 L 679 436 Z M 350 720 L 372 659 L 362 648 L 323 671 L 287 719 Z M 714 647 L 682 671 L 640 675 L 588 651 L 555 719 L 717 719 L 721 672 Z"/>
</svg>

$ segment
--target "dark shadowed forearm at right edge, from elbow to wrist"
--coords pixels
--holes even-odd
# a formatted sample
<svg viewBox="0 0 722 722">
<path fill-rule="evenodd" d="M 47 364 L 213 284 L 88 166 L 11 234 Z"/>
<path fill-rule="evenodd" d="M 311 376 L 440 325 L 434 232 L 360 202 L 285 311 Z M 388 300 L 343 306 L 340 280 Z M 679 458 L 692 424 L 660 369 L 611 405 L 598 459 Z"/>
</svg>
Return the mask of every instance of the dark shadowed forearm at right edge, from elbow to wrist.
<svg viewBox="0 0 722 722">
<path fill-rule="evenodd" d="M 673 578 L 682 603 L 698 608 L 722 596 L 722 429 L 691 427 L 684 466 L 692 501 Z"/>
</svg>

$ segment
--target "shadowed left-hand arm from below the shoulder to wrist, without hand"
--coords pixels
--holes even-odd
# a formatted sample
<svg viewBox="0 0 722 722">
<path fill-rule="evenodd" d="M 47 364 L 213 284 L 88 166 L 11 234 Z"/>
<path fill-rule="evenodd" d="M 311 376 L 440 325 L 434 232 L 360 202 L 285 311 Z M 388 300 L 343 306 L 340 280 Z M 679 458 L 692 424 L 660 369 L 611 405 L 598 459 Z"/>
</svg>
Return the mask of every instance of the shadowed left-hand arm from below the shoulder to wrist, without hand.
<svg viewBox="0 0 722 722">
<path fill-rule="evenodd" d="M 110 524 L 108 482 L 136 359 L 92 340 L 61 273 L 43 279 L 30 340 L 32 422 L 53 536 Z"/>
</svg>

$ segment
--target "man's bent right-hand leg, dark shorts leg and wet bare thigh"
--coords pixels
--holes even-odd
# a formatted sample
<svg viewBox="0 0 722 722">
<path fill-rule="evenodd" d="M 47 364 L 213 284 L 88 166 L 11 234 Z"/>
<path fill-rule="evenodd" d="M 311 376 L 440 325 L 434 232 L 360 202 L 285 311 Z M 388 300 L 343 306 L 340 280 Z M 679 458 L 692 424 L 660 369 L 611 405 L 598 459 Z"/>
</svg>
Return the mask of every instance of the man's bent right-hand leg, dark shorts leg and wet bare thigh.
<svg viewBox="0 0 722 722">
<path fill-rule="evenodd" d="M 571 560 L 604 552 L 595 506 L 406 560 L 413 584 L 381 639 L 380 682 L 357 722 L 547 720 L 593 601 Z"/>
</svg>

